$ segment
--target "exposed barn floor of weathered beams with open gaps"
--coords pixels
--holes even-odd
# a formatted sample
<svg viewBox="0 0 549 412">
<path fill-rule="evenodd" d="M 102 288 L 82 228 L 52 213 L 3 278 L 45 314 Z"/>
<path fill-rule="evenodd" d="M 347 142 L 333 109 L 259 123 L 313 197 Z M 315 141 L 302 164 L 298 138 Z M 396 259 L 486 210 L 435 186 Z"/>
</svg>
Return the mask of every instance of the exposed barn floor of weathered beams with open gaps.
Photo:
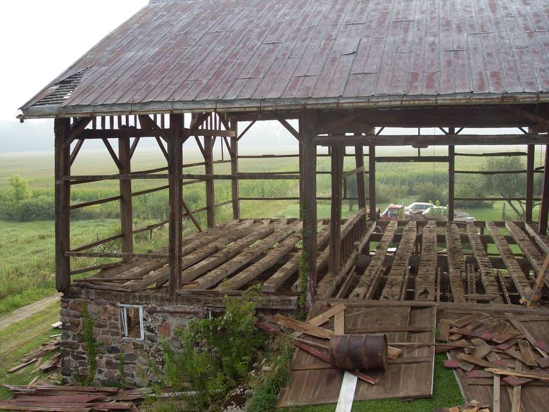
<svg viewBox="0 0 549 412">
<path fill-rule="evenodd" d="M 357 222 L 346 220 L 342 232 Z M 329 220 L 319 221 L 319 299 L 518 304 L 549 249 L 548 239 L 522 222 L 370 221 L 361 233 L 360 248 L 343 256 L 340 273 L 328 273 Z M 234 220 L 186 237 L 179 293 L 260 284 L 265 294 L 297 296 L 301 237 L 296 219 Z M 74 285 L 165 294 L 168 277 L 167 258 L 139 258 Z"/>
</svg>

